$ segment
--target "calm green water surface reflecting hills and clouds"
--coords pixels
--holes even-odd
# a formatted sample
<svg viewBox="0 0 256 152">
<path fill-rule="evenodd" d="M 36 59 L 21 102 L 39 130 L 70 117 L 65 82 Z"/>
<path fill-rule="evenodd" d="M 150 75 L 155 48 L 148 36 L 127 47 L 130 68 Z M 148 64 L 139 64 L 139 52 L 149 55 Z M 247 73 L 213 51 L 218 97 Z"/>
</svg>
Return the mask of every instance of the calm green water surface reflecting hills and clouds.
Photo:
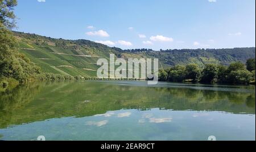
<svg viewBox="0 0 256 152">
<path fill-rule="evenodd" d="M 255 140 L 255 86 L 32 83 L 0 92 L 0 140 Z"/>
</svg>

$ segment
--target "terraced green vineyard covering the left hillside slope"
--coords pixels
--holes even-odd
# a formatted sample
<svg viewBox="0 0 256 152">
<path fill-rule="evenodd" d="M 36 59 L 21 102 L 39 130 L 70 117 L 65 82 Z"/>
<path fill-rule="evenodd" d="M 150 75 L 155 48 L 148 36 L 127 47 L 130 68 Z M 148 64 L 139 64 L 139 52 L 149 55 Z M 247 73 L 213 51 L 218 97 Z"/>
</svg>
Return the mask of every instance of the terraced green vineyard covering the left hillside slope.
<svg viewBox="0 0 256 152">
<path fill-rule="evenodd" d="M 56 46 L 39 46 L 19 41 L 20 52 L 40 66 L 43 72 L 68 75 L 96 76 L 100 56 L 89 54 L 86 50 L 67 50 Z M 105 56 L 106 57 L 106 56 Z"/>
</svg>

